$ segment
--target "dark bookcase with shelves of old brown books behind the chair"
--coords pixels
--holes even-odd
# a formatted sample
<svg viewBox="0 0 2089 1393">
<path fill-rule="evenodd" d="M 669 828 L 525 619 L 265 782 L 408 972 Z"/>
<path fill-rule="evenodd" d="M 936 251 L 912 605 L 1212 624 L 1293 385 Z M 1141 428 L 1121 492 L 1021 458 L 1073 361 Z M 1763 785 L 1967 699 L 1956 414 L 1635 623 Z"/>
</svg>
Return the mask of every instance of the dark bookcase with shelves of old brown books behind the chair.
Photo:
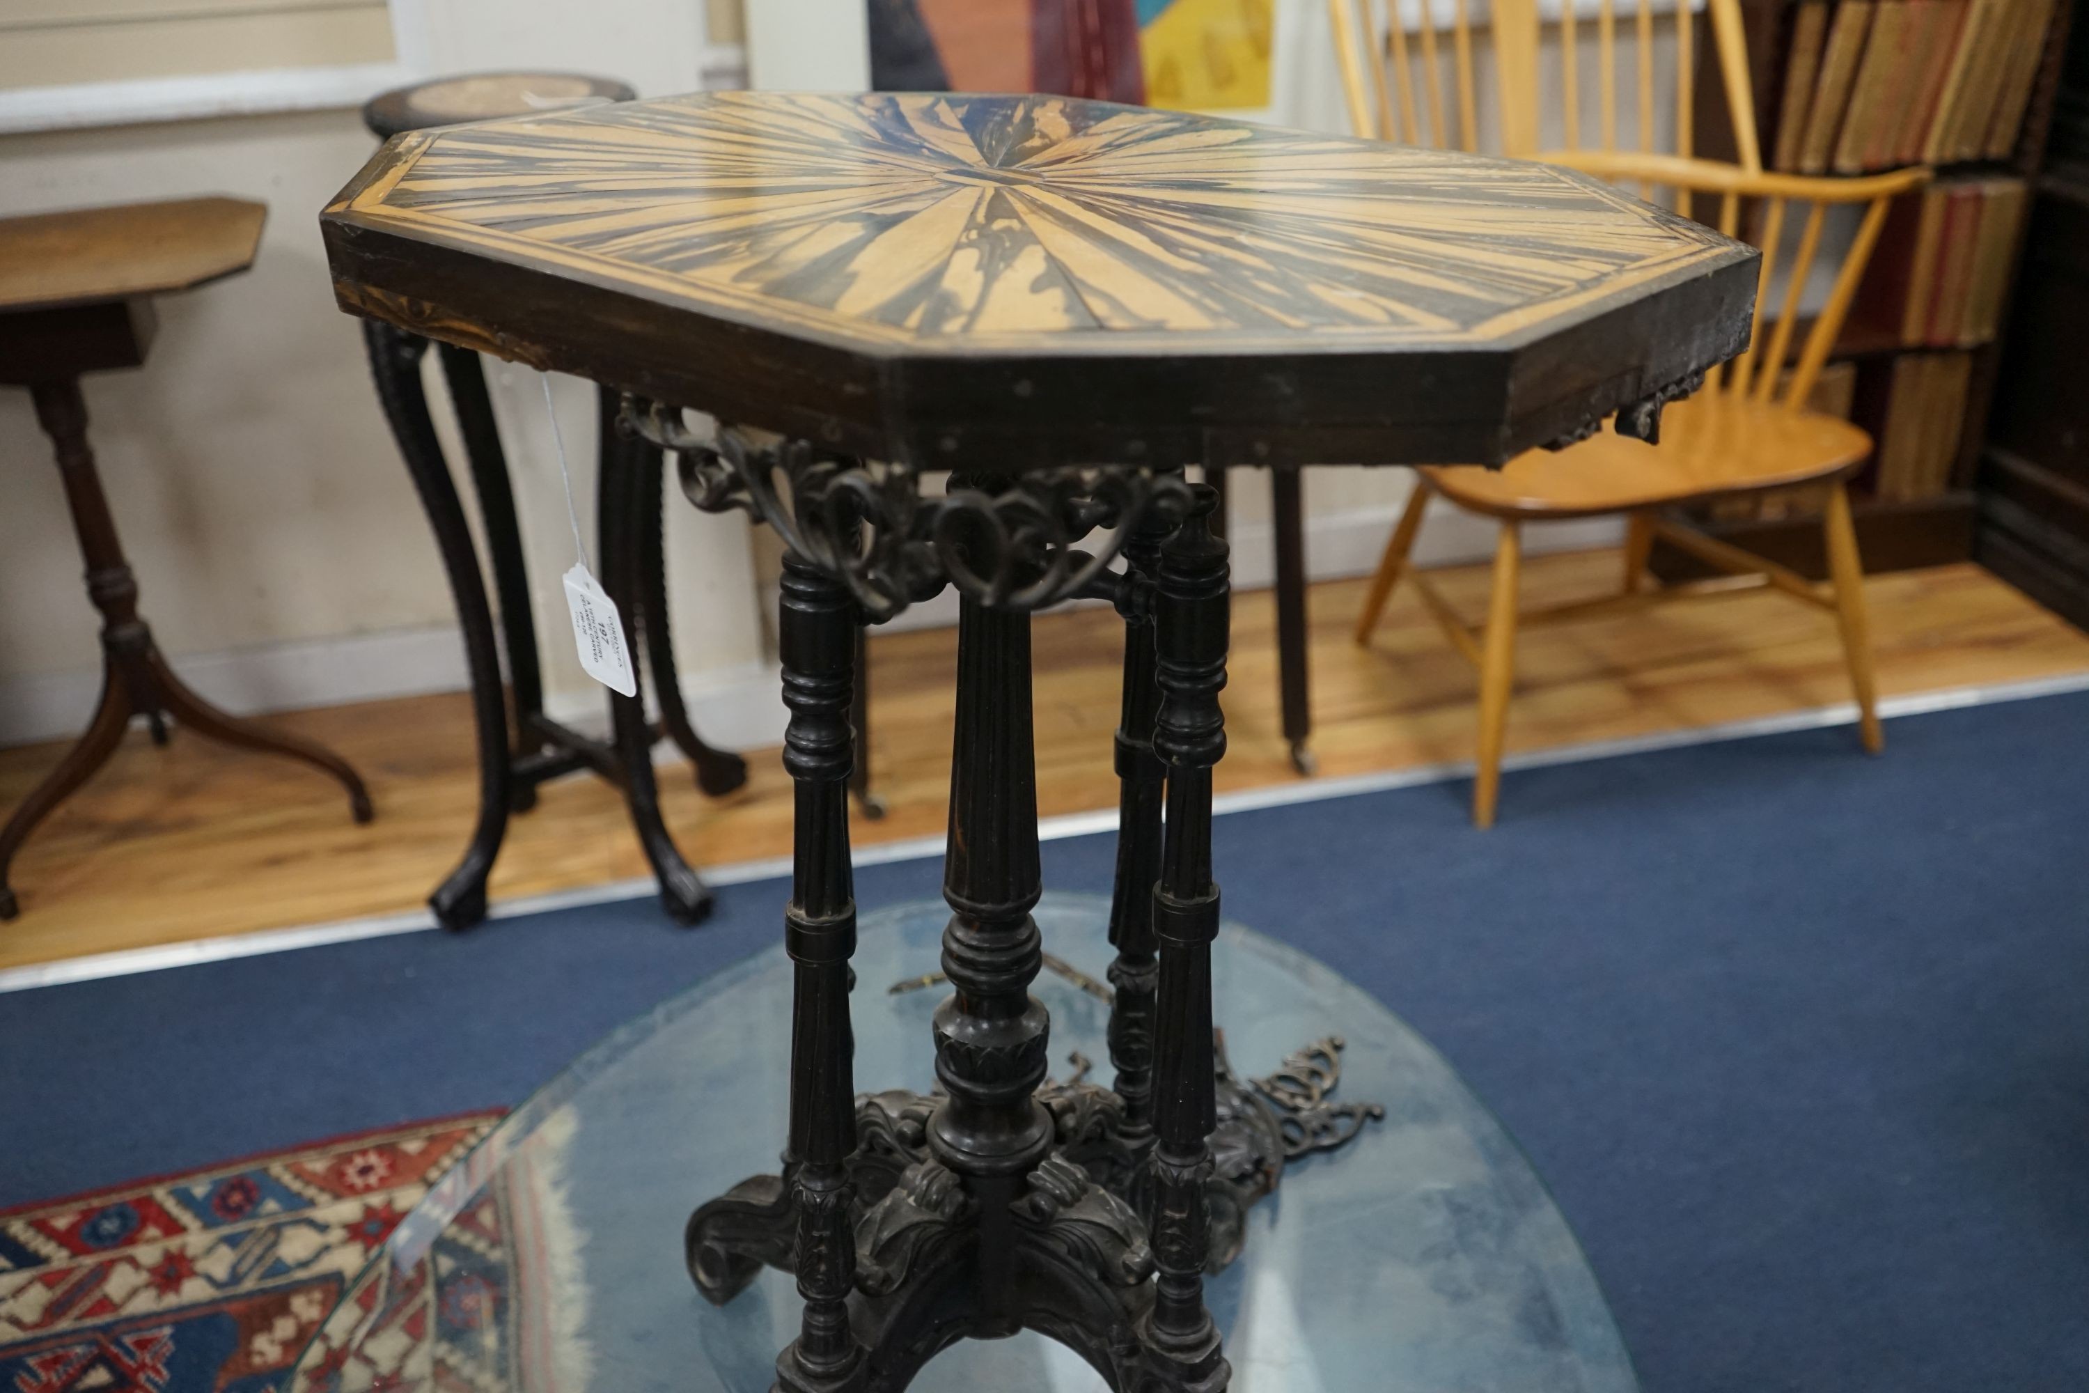
<svg viewBox="0 0 2089 1393">
<path fill-rule="evenodd" d="M 2024 211 L 2045 163 L 2074 0 L 1740 2 L 1765 163 L 1809 173 L 1937 169 L 1939 192 L 1911 194 L 1895 209 L 1899 228 L 1880 238 L 1865 278 L 1870 303 L 1861 299 L 1865 313 L 1851 313 L 1834 361 L 1851 376 L 1851 418 L 1878 441 L 1855 489 L 1865 568 L 1968 560 L 2005 307 L 2033 221 Z M 1703 152 L 1732 159 L 1717 77 L 1703 71 L 1696 94 Z M 1930 240 L 1918 251 L 1924 221 Z M 1957 238 L 1945 240 L 1943 226 L 1955 226 Z M 1909 292 L 1926 299 L 1911 309 Z M 1707 526 L 1805 574 L 1826 574 L 1820 526 L 1803 510 L 1717 516 Z M 1652 566 L 1673 581 L 1703 570 L 1671 549 L 1659 549 Z"/>
</svg>

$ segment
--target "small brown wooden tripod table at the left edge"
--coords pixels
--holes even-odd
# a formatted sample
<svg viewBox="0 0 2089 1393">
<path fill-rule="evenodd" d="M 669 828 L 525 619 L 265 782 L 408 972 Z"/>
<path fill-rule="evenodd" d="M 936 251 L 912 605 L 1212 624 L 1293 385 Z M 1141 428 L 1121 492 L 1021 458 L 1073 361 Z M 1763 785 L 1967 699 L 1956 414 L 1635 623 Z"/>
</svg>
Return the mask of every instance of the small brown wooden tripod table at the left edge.
<svg viewBox="0 0 2089 1393">
<path fill-rule="evenodd" d="M 94 470 L 79 378 L 138 368 L 152 343 L 152 297 L 192 290 L 253 265 L 267 209 L 240 198 L 182 198 L 0 221 L 0 384 L 27 386 L 50 436 L 65 501 L 102 614 L 102 700 L 58 766 L 0 829 L 0 919 L 19 913 L 8 865 L 29 833 L 115 752 L 132 716 L 167 743 L 167 718 L 228 746 L 305 760 L 349 789 L 370 821 L 363 781 L 332 750 L 226 714 L 173 675 L 138 616 L 138 581 Z"/>
</svg>

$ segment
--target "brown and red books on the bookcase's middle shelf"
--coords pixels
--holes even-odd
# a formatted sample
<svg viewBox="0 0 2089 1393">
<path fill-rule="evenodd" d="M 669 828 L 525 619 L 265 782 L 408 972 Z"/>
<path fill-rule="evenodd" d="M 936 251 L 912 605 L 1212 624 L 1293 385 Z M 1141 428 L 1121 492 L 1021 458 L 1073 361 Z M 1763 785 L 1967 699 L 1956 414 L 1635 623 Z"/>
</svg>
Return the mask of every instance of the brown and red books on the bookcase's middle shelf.
<svg viewBox="0 0 2089 1393">
<path fill-rule="evenodd" d="M 1911 349 L 1993 340 L 2026 203 L 2014 175 L 1939 180 L 1895 200 L 1849 324 Z"/>
</svg>

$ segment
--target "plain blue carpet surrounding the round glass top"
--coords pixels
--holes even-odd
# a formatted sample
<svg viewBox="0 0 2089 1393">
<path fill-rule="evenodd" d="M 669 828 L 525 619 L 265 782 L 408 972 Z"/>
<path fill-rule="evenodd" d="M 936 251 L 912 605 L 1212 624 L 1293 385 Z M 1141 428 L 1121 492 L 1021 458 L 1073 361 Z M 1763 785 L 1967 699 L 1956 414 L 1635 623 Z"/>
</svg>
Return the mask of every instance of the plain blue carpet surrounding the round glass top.
<svg viewBox="0 0 2089 1393">
<path fill-rule="evenodd" d="M 1226 911 L 1427 1034 L 1652 1393 L 2089 1387 L 2089 695 L 1218 823 Z M 1107 890 L 1109 837 L 1047 846 Z M 859 898 L 934 894 L 934 863 Z M 514 1103 L 777 940 L 652 900 L 0 996 L 0 1205 Z"/>
</svg>

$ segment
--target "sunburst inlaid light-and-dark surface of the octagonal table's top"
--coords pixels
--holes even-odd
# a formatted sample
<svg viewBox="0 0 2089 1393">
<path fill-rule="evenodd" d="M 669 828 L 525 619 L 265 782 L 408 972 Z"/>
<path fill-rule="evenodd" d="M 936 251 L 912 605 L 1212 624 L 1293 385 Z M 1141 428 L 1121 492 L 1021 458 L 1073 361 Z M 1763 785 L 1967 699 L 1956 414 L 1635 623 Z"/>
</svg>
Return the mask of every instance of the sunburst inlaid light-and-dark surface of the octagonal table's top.
<svg viewBox="0 0 2089 1393">
<path fill-rule="evenodd" d="M 1730 257 L 1565 169 L 1051 96 L 721 92 L 401 140 L 336 211 L 932 351 L 1512 340 Z"/>
</svg>

